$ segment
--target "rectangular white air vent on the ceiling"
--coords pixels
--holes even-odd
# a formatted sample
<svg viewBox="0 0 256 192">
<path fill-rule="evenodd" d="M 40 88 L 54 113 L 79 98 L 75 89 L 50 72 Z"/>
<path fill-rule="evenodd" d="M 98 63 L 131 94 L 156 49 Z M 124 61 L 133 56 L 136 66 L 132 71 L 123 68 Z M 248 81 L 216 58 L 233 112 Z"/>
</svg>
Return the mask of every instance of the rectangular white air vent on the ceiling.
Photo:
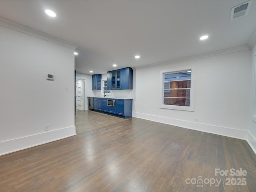
<svg viewBox="0 0 256 192">
<path fill-rule="evenodd" d="M 231 9 L 230 21 L 248 15 L 252 0 L 235 6 Z"/>
</svg>

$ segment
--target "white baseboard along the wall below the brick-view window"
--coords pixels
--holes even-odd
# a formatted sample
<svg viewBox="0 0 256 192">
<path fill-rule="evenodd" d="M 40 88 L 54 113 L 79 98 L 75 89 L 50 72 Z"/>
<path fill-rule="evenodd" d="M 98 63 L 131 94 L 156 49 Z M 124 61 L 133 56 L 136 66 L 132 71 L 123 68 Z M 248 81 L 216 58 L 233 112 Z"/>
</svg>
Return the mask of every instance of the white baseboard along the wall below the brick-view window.
<svg viewBox="0 0 256 192">
<path fill-rule="evenodd" d="M 199 122 L 191 122 L 191 121 L 184 121 L 179 119 L 173 119 L 173 118 L 167 118 L 162 116 L 156 116 L 156 115 L 150 115 L 150 114 L 142 114 L 133 112 L 132 117 L 136 118 L 142 118 L 150 121 L 160 122 L 164 124 L 169 124 L 173 126 L 178 126 L 182 128 L 247 140 L 248 138 L 248 132 L 245 130 L 238 130 L 238 129 L 232 129 L 228 127 L 222 127 L 222 126 L 215 126 L 210 124 L 203 124 Z"/>
</svg>

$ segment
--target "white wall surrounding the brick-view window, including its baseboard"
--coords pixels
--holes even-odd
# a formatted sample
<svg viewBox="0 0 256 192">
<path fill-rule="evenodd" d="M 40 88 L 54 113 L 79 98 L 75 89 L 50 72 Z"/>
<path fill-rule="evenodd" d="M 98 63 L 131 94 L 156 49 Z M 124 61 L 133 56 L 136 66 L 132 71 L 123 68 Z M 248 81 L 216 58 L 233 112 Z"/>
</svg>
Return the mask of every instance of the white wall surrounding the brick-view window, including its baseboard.
<svg viewBox="0 0 256 192">
<path fill-rule="evenodd" d="M 195 72 L 195 110 L 159 108 L 161 70 Z M 251 106 L 251 51 L 136 68 L 133 116 L 185 128 L 247 138 Z M 198 118 L 198 123 L 195 122 Z"/>
</svg>

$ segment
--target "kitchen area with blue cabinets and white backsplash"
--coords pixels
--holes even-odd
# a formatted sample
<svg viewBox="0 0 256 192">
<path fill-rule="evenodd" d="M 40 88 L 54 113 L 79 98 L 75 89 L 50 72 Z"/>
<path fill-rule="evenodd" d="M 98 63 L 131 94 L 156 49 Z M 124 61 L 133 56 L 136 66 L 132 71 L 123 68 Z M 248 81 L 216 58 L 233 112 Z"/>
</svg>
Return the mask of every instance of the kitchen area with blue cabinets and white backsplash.
<svg viewBox="0 0 256 192">
<path fill-rule="evenodd" d="M 133 69 L 130 67 L 108 71 L 107 74 L 80 74 L 84 80 L 84 109 L 120 118 L 132 117 Z"/>
</svg>

